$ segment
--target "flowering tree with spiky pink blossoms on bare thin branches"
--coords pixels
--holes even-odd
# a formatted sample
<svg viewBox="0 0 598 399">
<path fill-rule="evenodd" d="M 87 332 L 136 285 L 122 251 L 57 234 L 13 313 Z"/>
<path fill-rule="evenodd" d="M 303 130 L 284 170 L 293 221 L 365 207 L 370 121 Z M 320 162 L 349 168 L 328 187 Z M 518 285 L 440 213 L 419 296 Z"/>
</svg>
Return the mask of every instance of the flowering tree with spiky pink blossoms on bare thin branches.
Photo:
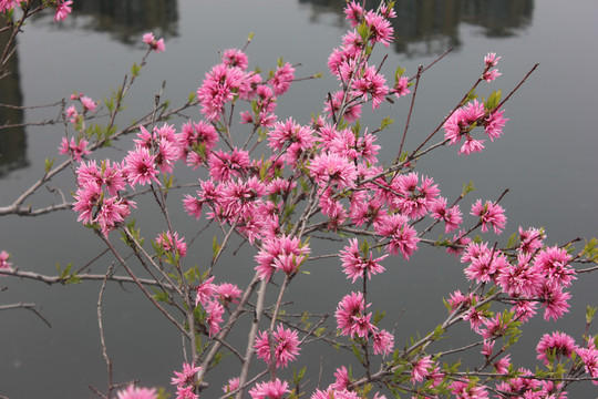
<svg viewBox="0 0 598 399">
<path fill-rule="evenodd" d="M 61 21 L 69 14 L 71 1 L 42 1 L 38 8 L 32 4 L 0 2 L 11 38 L 28 18 L 44 8 L 54 8 L 54 20 Z M 14 19 L 14 8 L 22 11 L 20 20 Z M 444 146 L 457 145 L 457 154 L 466 156 L 483 151 L 485 136 L 491 142 L 499 139 L 508 121 L 503 105 L 537 65 L 504 99 L 501 91 L 482 99 L 476 95 L 478 85 L 499 75 L 496 66 L 501 58 L 488 53 L 481 62 L 480 78 L 454 109 L 417 146 L 406 150 L 417 86 L 432 65 L 421 66 L 411 78 L 396 69 L 388 80 L 382 73 L 384 58 L 377 59 L 377 50 L 393 40 L 389 22 L 394 18 L 392 3 L 367 10 L 348 2 L 346 16 L 352 28 L 328 60 L 339 90 L 327 93 L 321 113 L 308 124 L 299 123 L 298 117 L 281 120 L 276 113 L 283 94 L 301 80 L 295 66 L 279 61 L 269 74 L 250 70 L 246 45 L 224 51 L 221 62 L 205 74 L 196 94 L 183 105 L 171 109 L 156 95 L 151 112 L 117 129 L 116 115 L 124 110 L 126 94 L 147 58 L 166 50 L 164 40 L 152 33 L 143 35 L 147 51 L 141 63 L 133 65 L 120 90 L 104 101 L 107 114 L 103 119 L 99 114 L 102 105 L 83 93 L 73 94 L 70 106 L 63 105 L 61 121 L 69 129 L 58 151 L 65 161 L 56 166 L 48 161 L 40 181 L 12 204 L 0 207 L 0 215 L 37 216 L 72 208 L 116 263 L 99 275 L 66 268 L 56 276 L 44 276 L 12 268 L 18 260 L 10 263 L 3 250 L 0 274 L 50 284 L 103 282 L 97 321 L 107 383 L 105 389 L 94 388 L 100 397 L 164 395 L 134 385 L 122 388 L 113 381 L 102 324 L 104 290 L 112 282 L 136 285 L 183 336 L 183 366 L 172 378 L 181 399 L 204 393 L 260 399 L 301 395 L 313 399 L 390 395 L 566 398 L 567 387 L 574 382 L 592 380 L 598 385 L 597 341 L 590 334 L 595 308 L 588 308 L 579 339 L 560 331 L 542 337 L 536 348 L 542 367 L 536 370 L 514 365 L 509 355 L 523 324 L 538 313 L 549 320 L 569 311 L 574 280 L 598 268 L 584 268 L 598 260 L 596 241 L 576 249 L 573 242 L 560 246 L 548 243 L 543 228 L 519 227 L 507 243 L 499 244 L 493 237 L 506 228 L 501 206 L 506 192 L 495 200 L 473 200 L 466 206 L 471 185 L 450 200 L 431 176 L 415 168 L 417 160 Z M 8 57 L 9 50 L 2 55 L 2 64 Z M 409 96 L 410 101 L 403 99 Z M 377 134 L 392 121 L 384 119 L 379 127 L 367 129 L 360 123 L 363 112 L 370 106 L 377 112 L 385 101 L 406 101 L 410 106 L 393 160 L 379 160 L 377 144 Z M 169 124 L 183 110 L 196 110 L 196 117 Z M 134 140 L 125 156 L 114 153 L 111 158 L 95 157 L 97 149 L 126 134 Z M 202 176 L 193 182 L 193 188 L 176 181 L 178 167 L 190 167 Z M 61 204 L 45 208 L 23 206 L 39 187 L 69 168 L 76 184 L 72 201 L 63 196 Z M 166 198 L 174 190 L 185 191 L 182 206 L 200 226 L 198 235 L 212 232 L 204 228 L 205 224 L 219 232 L 213 241 L 212 257 L 200 266 L 189 260 L 190 243 L 179 235 L 171 217 L 173 209 Z M 146 237 L 135 224 L 141 196 L 152 198 L 159 209 L 163 232 L 155 237 Z M 475 223 L 464 223 L 462 206 L 468 208 Z M 430 238 L 437 232 L 440 239 Z M 478 232 L 483 236 L 475 235 Z M 221 280 L 218 273 L 221 256 L 236 237 L 255 252 L 255 273 L 244 287 Z M 125 250 L 115 244 L 118 239 L 125 243 Z M 343 248 L 338 254 L 317 253 L 313 243 L 320 239 L 342 239 Z M 409 260 L 422 245 L 455 255 L 470 288 L 450 294 L 446 317 L 435 329 L 399 347 L 383 314 L 373 311 L 384 304 L 372 304 L 368 294 L 375 289 L 372 277 L 383 274 L 392 257 Z M 333 317 L 287 313 L 290 284 L 299 276 L 309 278 L 303 275 L 311 262 L 332 256 L 355 287 L 338 303 L 329 304 Z M 116 266 L 124 274 L 116 274 Z M 140 266 L 142 273 L 137 272 Z M 27 307 L 38 311 L 32 305 Z M 239 321 L 246 314 L 251 315 L 249 326 Z M 437 341 L 451 337 L 457 324 L 468 326 L 475 341 L 437 349 Z M 240 346 L 228 339 L 235 328 L 247 328 L 247 341 Z M 282 377 L 288 376 L 286 369 L 302 348 L 315 340 L 351 351 L 360 367 L 340 365 L 336 370 L 323 370 L 333 374 L 334 382 L 311 391 L 305 390 L 302 381 L 308 372 L 317 376 L 317 365 L 295 372 L 292 378 Z M 463 365 L 445 360 L 448 355 L 465 351 L 481 352 L 480 361 Z M 219 369 L 225 355 L 236 358 L 238 367 L 217 371 L 227 372 L 230 380 L 216 393 L 209 376 Z"/>
</svg>

